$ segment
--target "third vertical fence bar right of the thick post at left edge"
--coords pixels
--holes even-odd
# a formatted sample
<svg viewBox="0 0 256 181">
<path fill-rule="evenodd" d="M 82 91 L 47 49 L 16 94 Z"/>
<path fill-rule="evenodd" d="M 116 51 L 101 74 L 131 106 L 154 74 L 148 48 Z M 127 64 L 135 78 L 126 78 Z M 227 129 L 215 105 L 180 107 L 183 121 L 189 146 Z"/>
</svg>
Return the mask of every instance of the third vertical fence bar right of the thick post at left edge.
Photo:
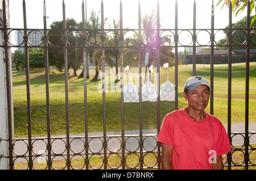
<svg viewBox="0 0 256 181">
<path fill-rule="evenodd" d="M 70 170 L 70 142 L 69 142 L 69 104 L 68 104 L 68 37 L 67 22 L 65 12 L 65 2 L 63 0 L 63 53 L 65 64 L 65 109 L 66 109 L 66 135 L 67 135 L 67 168 Z"/>
</svg>

